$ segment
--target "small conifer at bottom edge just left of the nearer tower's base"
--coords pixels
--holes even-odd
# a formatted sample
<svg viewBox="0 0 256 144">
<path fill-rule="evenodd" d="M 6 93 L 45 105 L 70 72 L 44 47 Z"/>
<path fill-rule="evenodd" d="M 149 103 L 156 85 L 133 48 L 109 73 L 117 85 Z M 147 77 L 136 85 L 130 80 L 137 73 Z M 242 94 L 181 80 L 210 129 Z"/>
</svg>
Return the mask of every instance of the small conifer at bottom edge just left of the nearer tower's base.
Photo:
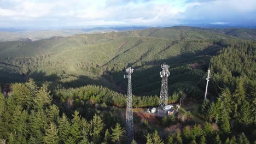
<svg viewBox="0 0 256 144">
<path fill-rule="evenodd" d="M 112 141 L 113 142 L 117 141 L 117 143 L 120 143 L 125 133 L 124 128 L 121 128 L 120 124 L 117 123 L 115 124 L 115 128 L 114 129 L 111 128 L 111 130 L 112 130 L 112 135 L 111 135 Z"/>
</svg>

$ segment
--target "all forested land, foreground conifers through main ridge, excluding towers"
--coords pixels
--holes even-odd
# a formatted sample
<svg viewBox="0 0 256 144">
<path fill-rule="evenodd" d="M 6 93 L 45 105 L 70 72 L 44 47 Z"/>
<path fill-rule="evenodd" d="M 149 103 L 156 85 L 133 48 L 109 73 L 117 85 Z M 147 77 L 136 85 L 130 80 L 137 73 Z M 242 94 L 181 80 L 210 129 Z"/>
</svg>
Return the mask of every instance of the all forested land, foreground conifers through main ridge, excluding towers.
<svg viewBox="0 0 256 144">
<path fill-rule="evenodd" d="M 166 63 L 168 103 L 182 98 L 184 108 L 155 123 L 135 116 L 137 143 L 253 143 L 254 38 L 254 29 L 168 27 L 0 43 L 0 140 L 126 143 L 125 69 L 133 107 L 158 106 Z"/>
</svg>

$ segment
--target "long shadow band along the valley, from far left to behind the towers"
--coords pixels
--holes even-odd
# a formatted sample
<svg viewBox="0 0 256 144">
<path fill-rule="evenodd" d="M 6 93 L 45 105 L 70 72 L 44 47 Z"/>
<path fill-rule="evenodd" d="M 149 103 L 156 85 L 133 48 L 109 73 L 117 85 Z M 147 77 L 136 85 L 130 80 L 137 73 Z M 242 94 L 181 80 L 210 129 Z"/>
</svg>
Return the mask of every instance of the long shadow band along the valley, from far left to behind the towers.
<svg viewBox="0 0 256 144">
<path fill-rule="evenodd" d="M 136 63 L 127 64 L 126 67 L 132 67 L 134 73 L 132 74 L 132 91 L 136 95 L 159 95 L 161 87 L 161 77 L 159 75 L 161 64 L 166 63 L 170 65 L 169 81 L 169 94 L 172 94 L 177 89 L 184 89 L 184 87 L 193 87 L 196 82 L 200 81 L 205 71 L 208 68 L 210 58 L 217 55 L 220 50 L 220 46 L 212 45 L 203 50 L 197 50 L 195 52 L 185 52 L 175 57 L 169 57 L 167 59 L 158 59 L 156 61 L 143 62 L 141 66 L 136 66 Z M 143 61 L 143 58 L 142 58 Z M 182 68 L 185 64 L 196 64 L 195 68 L 188 69 Z M 192 66 L 191 66 L 192 67 Z M 114 91 L 126 94 L 127 80 L 124 79 L 125 68 L 120 72 L 104 73 L 101 77 L 88 77 L 82 75 L 66 75 L 66 77 L 73 77 L 70 81 L 63 82 L 63 77 L 57 74 L 46 74 L 44 71 L 33 71 L 28 76 L 16 75 L 15 79 L 11 82 L 25 82 L 28 78 L 32 78 L 37 83 L 42 84 L 50 82 L 51 88 L 63 87 L 63 88 L 76 88 L 86 85 L 104 86 Z M 7 75 L 7 74 L 6 74 Z M 0 71 L 1 76 L 1 71 Z M 67 78 L 69 79 L 69 78 Z M 205 83 L 203 83 L 203 86 Z M 201 84 L 199 87 L 203 89 Z"/>
</svg>

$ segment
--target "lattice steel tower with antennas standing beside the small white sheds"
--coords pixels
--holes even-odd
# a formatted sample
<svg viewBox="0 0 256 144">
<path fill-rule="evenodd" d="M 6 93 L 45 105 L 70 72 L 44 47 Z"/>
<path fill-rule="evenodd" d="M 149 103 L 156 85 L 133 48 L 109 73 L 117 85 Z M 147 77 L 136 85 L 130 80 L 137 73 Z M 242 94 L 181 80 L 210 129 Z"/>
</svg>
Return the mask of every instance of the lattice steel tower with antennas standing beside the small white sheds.
<svg viewBox="0 0 256 144">
<path fill-rule="evenodd" d="M 162 64 L 161 67 L 162 71 L 160 72 L 160 76 L 162 77 L 162 86 L 159 98 L 158 115 L 165 115 L 165 106 L 168 103 L 168 76 L 170 75 L 170 72 L 167 64 Z"/>
</svg>

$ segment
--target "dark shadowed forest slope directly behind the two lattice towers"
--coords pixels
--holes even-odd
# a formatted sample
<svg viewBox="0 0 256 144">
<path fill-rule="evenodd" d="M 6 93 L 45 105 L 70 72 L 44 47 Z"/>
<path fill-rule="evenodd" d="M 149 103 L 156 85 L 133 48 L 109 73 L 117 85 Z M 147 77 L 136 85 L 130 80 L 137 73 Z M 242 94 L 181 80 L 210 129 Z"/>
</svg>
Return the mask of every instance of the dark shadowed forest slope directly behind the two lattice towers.
<svg viewBox="0 0 256 144">
<path fill-rule="evenodd" d="M 132 74 L 133 94 L 159 95 L 161 88 L 161 77 L 159 73 L 162 70 L 161 64 L 163 63 L 170 65 L 170 76 L 168 77 L 169 95 L 178 91 L 178 89 L 194 94 L 201 93 L 205 88 L 205 81 L 203 80 L 210 59 L 212 56 L 217 55 L 220 49 L 222 49 L 220 46 L 209 46 L 203 50 L 186 52 L 167 59 L 144 62 L 142 66 L 128 64 L 127 67 L 135 69 Z M 186 64 L 188 64 L 190 68 L 182 67 Z M 127 91 L 127 80 L 124 80 L 124 74 L 126 74 L 125 69 L 119 73 L 110 72 L 104 75 L 104 77 L 113 77 L 112 79 L 121 87 L 122 92 L 125 94 Z M 195 87 L 197 87 L 197 92 L 195 92 Z"/>
</svg>

